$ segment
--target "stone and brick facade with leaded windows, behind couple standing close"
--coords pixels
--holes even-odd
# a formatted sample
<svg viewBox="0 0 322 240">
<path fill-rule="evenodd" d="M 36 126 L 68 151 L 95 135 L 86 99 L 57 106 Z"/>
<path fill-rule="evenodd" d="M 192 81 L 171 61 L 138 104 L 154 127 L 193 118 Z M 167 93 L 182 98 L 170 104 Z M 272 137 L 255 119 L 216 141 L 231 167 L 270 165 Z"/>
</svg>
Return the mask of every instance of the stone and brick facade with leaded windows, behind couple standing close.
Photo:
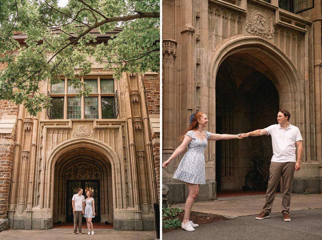
<svg viewBox="0 0 322 240">
<path fill-rule="evenodd" d="M 94 63 L 81 77 L 94 87 L 85 98 L 75 96 L 64 76 L 61 84 L 46 82 L 40 91 L 51 95 L 53 108 L 36 117 L 22 104 L 0 101 L 0 218 L 8 218 L 8 227 L 72 222 L 71 197 L 81 187 L 93 193 L 94 222 L 155 228 L 160 91 L 152 86 L 160 76 L 112 75 Z"/>
</svg>

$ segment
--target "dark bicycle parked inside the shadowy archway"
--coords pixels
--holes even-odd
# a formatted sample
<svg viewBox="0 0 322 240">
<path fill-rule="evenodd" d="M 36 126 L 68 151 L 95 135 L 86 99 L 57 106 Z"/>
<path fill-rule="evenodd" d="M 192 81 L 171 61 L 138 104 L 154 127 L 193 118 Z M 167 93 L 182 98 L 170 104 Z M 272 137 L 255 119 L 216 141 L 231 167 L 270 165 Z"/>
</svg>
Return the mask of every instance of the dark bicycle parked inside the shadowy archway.
<svg viewBox="0 0 322 240">
<path fill-rule="evenodd" d="M 263 168 L 260 167 L 260 165 L 264 161 L 259 161 L 257 162 L 254 159 L 251 159 L 253 162 L 253 166 L 256 168 L 256 170 L 251 170 L 247 173 L 245 177 L 245 184 L 248 189 L 254 190 L 254 189 L 259 189 L 261 186 L 262 189 L 267 189 L 268 185 L 268 180 L 270 179 L 270 170 L 265 171 Z M 270 162 L 267 164 L 270 165 Z M 263 176 L 262 171 L 266 173 L 266 177 Z M 276 191 L 280 190 L 280 181 L 277 184 Z"/>
</svg>

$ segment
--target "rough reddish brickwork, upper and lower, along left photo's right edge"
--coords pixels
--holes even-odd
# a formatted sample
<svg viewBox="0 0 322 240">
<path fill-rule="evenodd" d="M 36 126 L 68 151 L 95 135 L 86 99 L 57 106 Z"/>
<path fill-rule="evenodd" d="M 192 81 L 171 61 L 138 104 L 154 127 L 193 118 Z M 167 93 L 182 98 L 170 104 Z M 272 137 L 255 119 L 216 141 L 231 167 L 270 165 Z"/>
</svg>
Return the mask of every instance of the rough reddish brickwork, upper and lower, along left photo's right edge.
<svg viewBox="0 0 322 240">
<path fill-rule="evenodd" d="M 145 74 L 144 87 L 149 115 L 160 114 L 160 74 Z M 160 132 L 151 134 L 156 187 L 160 199 Z"/>
</svg>

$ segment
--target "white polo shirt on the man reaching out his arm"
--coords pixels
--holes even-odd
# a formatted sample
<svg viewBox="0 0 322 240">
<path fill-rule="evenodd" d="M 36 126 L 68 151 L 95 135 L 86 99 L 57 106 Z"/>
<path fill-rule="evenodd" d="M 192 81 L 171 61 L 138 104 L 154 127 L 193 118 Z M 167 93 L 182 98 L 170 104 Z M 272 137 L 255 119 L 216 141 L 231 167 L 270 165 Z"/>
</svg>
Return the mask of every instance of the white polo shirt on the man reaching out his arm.
<svg viewBox="0 0 322 240">
<path fill-rule="evenodd" d="M 279 124 L 271 125 L 265 130 L 272 137 L 273 157 L 272 162 L 296 162 L 296 142 L 302 141 L 300 130 L 289 123 L 287 129 Z"/>
</svg>

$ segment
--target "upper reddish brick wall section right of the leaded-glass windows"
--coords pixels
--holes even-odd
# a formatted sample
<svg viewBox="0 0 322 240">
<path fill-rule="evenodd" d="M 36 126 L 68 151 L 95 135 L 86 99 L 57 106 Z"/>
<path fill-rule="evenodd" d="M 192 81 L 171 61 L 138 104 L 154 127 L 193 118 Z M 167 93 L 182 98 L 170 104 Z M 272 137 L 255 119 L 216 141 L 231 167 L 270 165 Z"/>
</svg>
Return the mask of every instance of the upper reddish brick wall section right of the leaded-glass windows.
<svg viewBox="0 0 322 240">
<path fill-rule="evenodd" d="M 160 74 L 144 75 L 148 114 L 160 114 Z"/>
</svg>

